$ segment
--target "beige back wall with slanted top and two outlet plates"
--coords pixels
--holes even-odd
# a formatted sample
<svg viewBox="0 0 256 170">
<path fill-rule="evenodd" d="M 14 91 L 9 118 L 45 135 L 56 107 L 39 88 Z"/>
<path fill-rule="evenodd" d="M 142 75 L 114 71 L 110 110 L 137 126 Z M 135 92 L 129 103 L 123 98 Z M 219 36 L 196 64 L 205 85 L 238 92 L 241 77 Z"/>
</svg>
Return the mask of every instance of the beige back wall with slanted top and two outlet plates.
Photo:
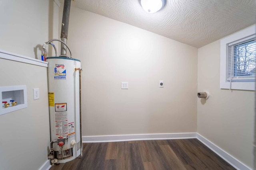
<svg viewBox="0 0 256 170">
<path fill-rule="evenodd" d="M 69 24 L 83 136 L 196 132 L 195 47 L 73 7 Z"/>
</svg>

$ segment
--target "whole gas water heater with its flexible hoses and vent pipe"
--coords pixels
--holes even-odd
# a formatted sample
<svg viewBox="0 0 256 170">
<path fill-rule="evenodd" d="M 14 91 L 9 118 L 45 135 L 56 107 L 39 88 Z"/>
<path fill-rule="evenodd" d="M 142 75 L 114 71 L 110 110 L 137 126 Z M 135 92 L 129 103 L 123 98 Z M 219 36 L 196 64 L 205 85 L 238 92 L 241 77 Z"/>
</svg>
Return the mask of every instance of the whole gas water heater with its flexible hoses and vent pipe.
<svg viewBox="0 0 256 170">
<path fill-rule="evenodd" d="M 72 58 L 68 47 L 68 23 L 71 0 L 64 0 L 61 40 L 52 39 L 44 43 L 42 60 L 48 64 L 48 95 L 50 112 L 51 164 L 68 162 L 82 156 L 81 122 L 81 62 Z M 52 41 L 61 42 L 61 55 Z M 46 57 L 46 47 L 52 45 L 55 57 Z M 70 57 L 67 56 L 67 48 Z"/>
</svg>

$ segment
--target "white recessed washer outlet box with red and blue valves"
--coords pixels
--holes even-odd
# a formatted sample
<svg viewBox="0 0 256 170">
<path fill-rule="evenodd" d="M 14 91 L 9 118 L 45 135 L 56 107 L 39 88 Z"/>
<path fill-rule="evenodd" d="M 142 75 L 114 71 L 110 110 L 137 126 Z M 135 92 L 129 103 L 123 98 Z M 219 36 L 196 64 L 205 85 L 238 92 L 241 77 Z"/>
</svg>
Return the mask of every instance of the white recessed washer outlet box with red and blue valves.
<svg viewBox="0 0 256 170">
<path fill-rule="evenodd" d="M 0 87 L 0 100 L 2 103 L 0 115 L 28 107 L 27 86 Z M 11 100 L 14 100 L 17 104 L 12 106 Z M 4 107 L 3 102 L 7 102 L 10 106 Z"/>
</svg>

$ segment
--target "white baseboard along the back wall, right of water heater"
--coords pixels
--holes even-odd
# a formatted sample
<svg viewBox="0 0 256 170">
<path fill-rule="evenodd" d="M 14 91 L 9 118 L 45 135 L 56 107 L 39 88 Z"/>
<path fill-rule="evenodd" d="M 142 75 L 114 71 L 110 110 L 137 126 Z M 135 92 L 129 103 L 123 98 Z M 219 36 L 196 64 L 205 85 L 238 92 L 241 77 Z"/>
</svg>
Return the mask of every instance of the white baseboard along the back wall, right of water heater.
<svg viewBox="0 0 256 170">
<path fill-rule="evenodd" d="M 141 141 L 161 139 L 192 139 L 196 133 L 163 133 L 163 134 L 136 134 L 136 135 L 109 135 L 109 136 L 84 136 L 83 143 Z"/>
</svg>

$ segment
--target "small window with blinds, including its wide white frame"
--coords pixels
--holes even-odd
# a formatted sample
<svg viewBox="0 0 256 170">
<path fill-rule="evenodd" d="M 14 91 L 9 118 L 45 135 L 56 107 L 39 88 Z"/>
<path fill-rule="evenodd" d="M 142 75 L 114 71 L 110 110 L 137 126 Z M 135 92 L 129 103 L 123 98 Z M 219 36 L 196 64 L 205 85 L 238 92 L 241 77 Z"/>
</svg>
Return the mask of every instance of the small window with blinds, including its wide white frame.
<svg viewBox="0 0 256 170">
<path fill-rule="evenodd" d="M 220 88 L 255 90 L 255 25 L 221 40 Z"/>
</svg>

